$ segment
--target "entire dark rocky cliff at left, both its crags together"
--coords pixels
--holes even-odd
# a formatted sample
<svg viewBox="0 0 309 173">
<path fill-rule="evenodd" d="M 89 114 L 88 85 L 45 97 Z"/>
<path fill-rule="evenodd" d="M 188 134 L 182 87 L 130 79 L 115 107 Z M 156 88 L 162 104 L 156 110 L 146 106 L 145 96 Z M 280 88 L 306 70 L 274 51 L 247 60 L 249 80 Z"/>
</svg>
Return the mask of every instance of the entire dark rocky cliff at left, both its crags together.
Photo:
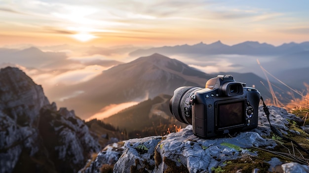
<svg viewBox="0 0 309 173">
<path fill-rule="evenodd" d="M 97 140 L 73 111 L 49 104 L 24 72 L 0 70 L 0 172 L 77 172 Z"/>
</svg>

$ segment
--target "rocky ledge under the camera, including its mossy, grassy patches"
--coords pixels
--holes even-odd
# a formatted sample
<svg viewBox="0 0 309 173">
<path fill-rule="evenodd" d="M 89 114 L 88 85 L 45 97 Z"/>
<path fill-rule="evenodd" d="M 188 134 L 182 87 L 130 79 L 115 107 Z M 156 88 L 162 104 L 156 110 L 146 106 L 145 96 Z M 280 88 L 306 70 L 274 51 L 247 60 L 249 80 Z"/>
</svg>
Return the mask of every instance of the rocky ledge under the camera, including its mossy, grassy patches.
<svg viewBox="0 0 309 173">
<path fill-rule="evenodd" d="M 274 106 L 270 115 L 273 126 L 309 149 L 309 135 L 297 125 L 300 118 Z M 106 164 L 115 164 L 115 173 L 308 173 L 308 157 L 272 134 L 260 107 L 259 126 L 251 131 L 201 139 L 193 135 L 190 125 L 163 137 L 129 139 L 122 147 L 108 146 L 79 172 L 104 172 Z"/>
</svg>

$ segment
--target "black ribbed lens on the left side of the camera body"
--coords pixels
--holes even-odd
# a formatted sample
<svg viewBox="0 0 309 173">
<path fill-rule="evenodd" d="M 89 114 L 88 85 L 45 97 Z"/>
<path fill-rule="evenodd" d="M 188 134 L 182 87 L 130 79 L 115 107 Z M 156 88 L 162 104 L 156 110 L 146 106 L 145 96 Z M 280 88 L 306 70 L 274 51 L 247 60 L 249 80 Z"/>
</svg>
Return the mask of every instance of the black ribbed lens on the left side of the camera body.
<svg viewBox="0 0 309 173">
<path fill-rule="evenodd" d="M 191 105 L 189 105 L 190 94 L 201 89 L 199 87 L 180 87 L 174 91 L 174 96 L 169 102 L 169 108 L 175 118 L 186 124 L 192 124 Z"/>
</svg>

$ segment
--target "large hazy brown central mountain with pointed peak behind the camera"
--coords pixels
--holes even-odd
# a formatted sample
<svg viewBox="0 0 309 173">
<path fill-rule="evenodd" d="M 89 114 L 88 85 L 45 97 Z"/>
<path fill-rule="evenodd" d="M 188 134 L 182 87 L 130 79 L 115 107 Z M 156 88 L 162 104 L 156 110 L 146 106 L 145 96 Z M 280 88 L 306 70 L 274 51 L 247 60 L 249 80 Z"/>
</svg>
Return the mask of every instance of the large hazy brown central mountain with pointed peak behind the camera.
<svg viewBox="0 0 309 173">
<path fill-rule="evenodd" d="M 180 86 L 204 87 L 211 77 L 178 60 L 153 54 L 105 70 L 90 81 L 70 87 L 68 93 L 84 93 L 61 104 L 86 119 L 109 104 L 143 101 L 161 93 L 173 95 Z"/>
</svg>

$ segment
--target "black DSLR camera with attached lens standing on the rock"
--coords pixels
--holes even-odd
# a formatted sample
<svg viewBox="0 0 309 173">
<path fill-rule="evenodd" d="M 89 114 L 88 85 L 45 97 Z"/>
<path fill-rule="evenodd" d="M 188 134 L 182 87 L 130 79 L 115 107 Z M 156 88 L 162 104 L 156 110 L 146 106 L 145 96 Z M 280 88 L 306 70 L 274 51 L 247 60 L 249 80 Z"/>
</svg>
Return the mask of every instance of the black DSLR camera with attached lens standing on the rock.
<svg viewBox="0 0 309 173">
<path fill-rule="evenodd" d="M 261 95 L 232 75 L 218 75 L 205 88 L 180 87 L 174 91 L 169 106 L 175 118 L 193 126 L 199 138 L 213 138 L 258 126 Z"/>
</svg>

